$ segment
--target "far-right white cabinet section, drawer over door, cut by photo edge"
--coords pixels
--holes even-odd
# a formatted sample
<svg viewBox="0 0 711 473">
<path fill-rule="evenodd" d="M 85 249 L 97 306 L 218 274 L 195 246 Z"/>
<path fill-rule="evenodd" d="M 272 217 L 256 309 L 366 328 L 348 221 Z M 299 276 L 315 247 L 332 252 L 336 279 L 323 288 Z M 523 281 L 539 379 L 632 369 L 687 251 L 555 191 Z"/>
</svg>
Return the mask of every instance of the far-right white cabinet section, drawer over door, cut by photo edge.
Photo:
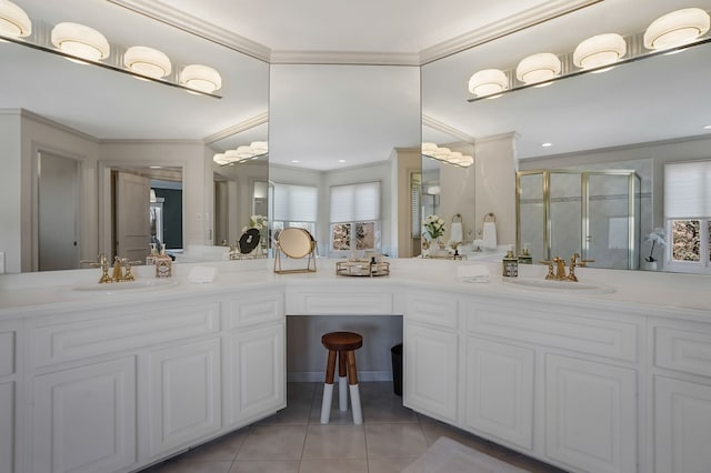
<svg viewBox="0 0 711 473">
<path fill-rule="evenodd" d="M 653 320 L 654 472 L 711 465 L 711 323 Z"/>
</svg>

